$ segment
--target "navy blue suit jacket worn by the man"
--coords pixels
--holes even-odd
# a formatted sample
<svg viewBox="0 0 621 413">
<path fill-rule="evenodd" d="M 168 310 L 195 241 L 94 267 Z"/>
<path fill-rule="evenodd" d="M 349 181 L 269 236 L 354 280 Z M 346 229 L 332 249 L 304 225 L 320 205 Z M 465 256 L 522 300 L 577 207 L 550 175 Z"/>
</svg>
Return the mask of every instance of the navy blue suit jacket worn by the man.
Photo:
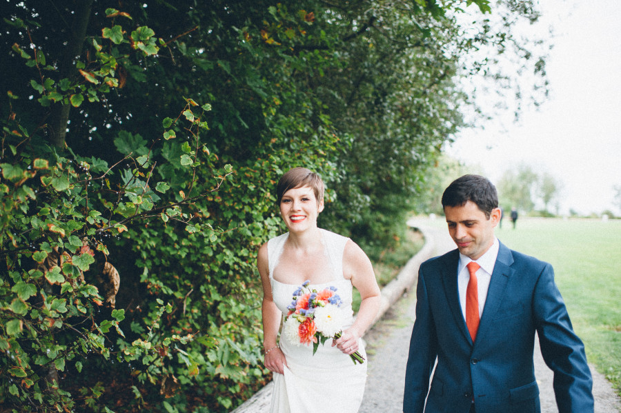
<svg viewBox="0 0 621 413">
<path fill-rule="evenodd" d="M 420 266 L 404 413 L 467 413 L 473 400 L 477 413 L 539 413 L 535 331 L 554 372 L 559 412 L 593 412 L 584 345 L 573 332 L 551 265 L 501 243 L 473 343 L 460 307 L 458 263 L 453 250 Z"/>
</svg>

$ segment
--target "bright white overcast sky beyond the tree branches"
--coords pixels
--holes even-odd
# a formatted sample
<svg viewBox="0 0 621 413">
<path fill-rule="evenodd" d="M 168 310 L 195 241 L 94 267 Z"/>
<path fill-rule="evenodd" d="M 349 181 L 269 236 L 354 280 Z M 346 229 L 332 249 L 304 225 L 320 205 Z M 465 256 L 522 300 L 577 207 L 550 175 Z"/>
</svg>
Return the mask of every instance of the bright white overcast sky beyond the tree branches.
<svg viewBox="0 0 621 413">
<path fill-rule="evenodd" d="M 550 98 L 506 130 L 490 122 L 462 131 L 446 152 L 481 165 L 494 182 L 520 163 L 549 172 L 562 183 L 562 212 L 620 214 L 613 186 L 621 185 L 621 2 L 541 3 L 541 23 L 526 30 L 546 34 L 553 26 Z"/>
</svg>

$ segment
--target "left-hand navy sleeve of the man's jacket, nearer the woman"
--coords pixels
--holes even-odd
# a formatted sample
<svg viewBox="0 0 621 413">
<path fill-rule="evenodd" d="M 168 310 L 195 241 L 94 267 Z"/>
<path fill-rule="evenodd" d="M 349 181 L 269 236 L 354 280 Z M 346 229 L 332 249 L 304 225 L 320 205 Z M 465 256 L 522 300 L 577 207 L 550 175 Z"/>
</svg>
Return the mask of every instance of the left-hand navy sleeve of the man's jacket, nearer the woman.
<svg viewBox="0 0 621 413">
<path fill-rule="evenodd" d="M 429 378 L 437 356 L 437 337 L 429 305 L 424 270 L 418 273 L 416 286 L 416 319 L 410 339 L 406 365 L 404 413 L 422 413 L 429 389 Z"/>
</svg>

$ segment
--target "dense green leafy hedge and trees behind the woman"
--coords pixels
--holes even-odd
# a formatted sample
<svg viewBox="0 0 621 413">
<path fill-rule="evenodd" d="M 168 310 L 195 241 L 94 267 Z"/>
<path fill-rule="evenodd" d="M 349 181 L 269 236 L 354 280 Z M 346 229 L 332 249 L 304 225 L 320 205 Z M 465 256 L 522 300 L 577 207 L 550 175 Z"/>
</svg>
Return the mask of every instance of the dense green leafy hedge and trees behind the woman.
<svg viewBox="0 0 621 413">
<path fill-rule="evenodd" d="M 463 123 L 487 38 L 419 3 L 8 2 L 0 405 L 226 412 L 261 387 L 280 175 L 322 174 L 319 225 L 377 258 Z"/>
</svg>

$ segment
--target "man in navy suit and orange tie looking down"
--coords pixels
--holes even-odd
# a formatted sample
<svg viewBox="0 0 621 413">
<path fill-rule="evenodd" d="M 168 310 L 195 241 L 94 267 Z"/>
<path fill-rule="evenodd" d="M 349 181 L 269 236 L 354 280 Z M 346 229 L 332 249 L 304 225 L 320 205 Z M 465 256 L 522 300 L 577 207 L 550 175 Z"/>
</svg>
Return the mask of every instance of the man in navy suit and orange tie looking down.
<svg viewBox="0 0 621 413">
<path fill-rule="evenodd" d="M 495 237 L 494 185 L 465 175 L 446 188 L 442 207 L 457 250 L 420 266 L 404 413 L 539 413 L 535 332 L 559 412 L 592 413 L 584 345 L 552 267 Z"/>
</svg>

